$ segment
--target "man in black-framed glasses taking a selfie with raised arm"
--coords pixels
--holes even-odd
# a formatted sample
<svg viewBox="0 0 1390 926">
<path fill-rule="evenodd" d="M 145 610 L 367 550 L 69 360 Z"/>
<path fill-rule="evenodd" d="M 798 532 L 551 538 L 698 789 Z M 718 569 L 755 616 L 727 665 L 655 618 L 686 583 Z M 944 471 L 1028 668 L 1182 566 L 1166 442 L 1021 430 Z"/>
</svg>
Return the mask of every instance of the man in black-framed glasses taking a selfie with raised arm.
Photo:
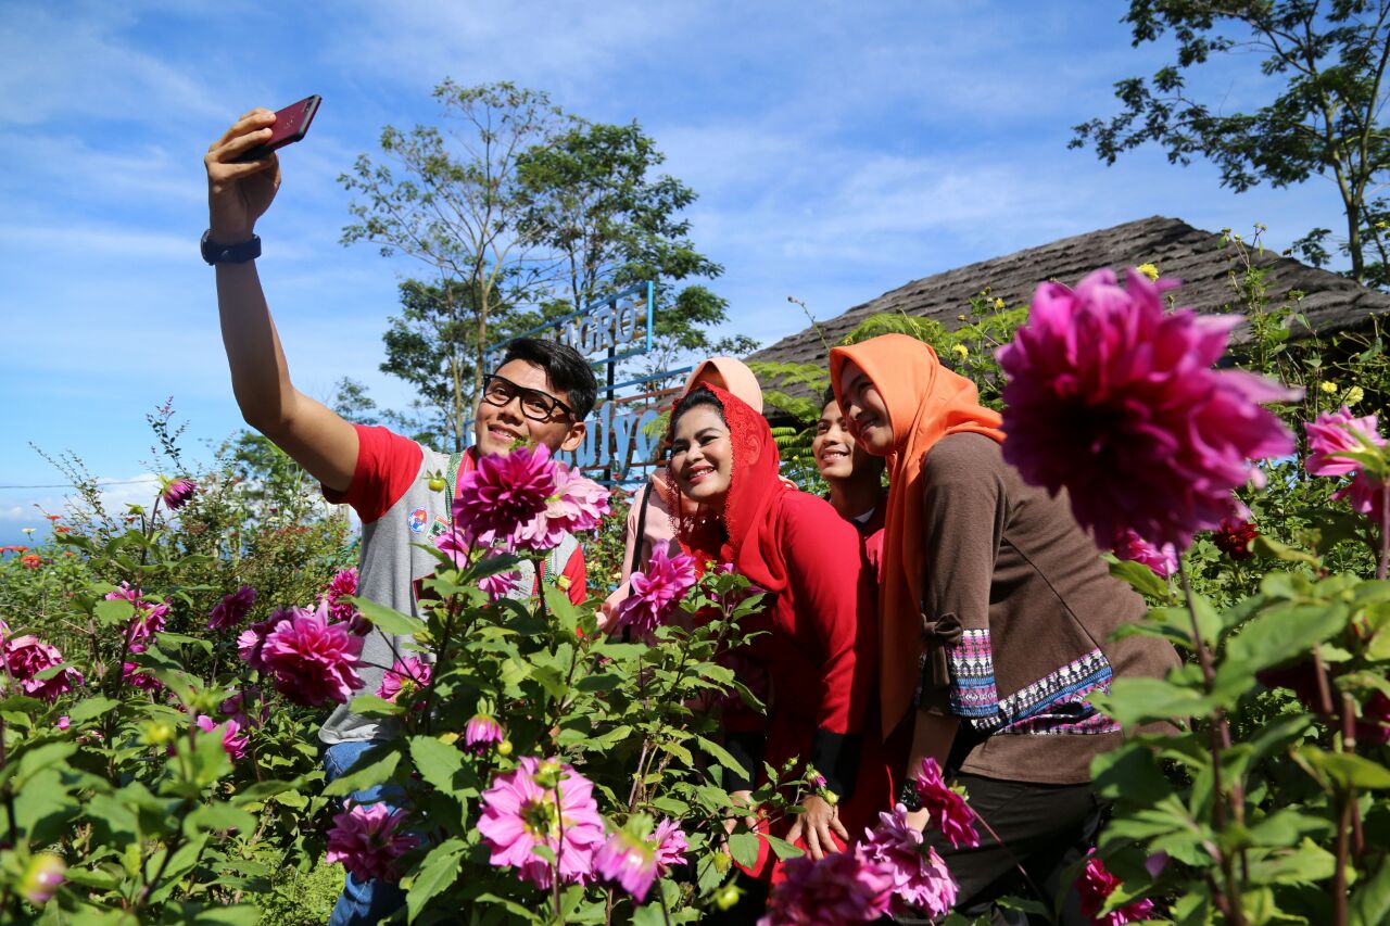
<svg viewBox="0 0 1390 926">
<path fill-rule="evenodd" d="M 203 259 L 217 268 L 232 391 L 249 425 L 309 470 L 328 501 L 352 505 L 361 517 L 359 594 L 417 613 L 420 583 L 438 564 L 420 545 L 448 528 L 459 478 L 477 466 L 480 455 L 509 453 L 520 444 L 545 445 L 552 452 L 575 449 L 584 439 L 584 419 L 594 409 L 598 384 L 589 364 L 571 348 L 513 341 L 502 364 L 484 382 L 474 419 L 477 445 L 456 455 L 438 453 L 388 428 L 350 424 L 296 389 L 253 263 L 260 256 L 256 220 L 275 197 L 279 165 L 275 154 L 249 163 L 235 160 L 263 142 L 272 122 L 268 110 L 252 110 L 203 159 L 210 216 Z M 542 569 L 567 580 L 571 601 L 585 599 L 584 555 L 573 537 L 552 551 Z M 518 571 L 518 594 L 535 591 L 539 577 L 531 563 L 521 563 Z M 404 638 L 379 630 L 368 633 L 359 673 L 361 691 L 377 691 L 385 667 L 406 652 L 403 644 Z M 324 765 L 329 780 L 346 773 L 374 742 L 395 734 L 388 723 L 339 705 L 318 734 L 328 747 Z M 389 797 L 370 788 L 354 793 L 352 799 L 371 804 Z M 329 923 L 375 923 L 403 902 L 404 893 L 395 883 L 349 876 Z"/>
</svg>

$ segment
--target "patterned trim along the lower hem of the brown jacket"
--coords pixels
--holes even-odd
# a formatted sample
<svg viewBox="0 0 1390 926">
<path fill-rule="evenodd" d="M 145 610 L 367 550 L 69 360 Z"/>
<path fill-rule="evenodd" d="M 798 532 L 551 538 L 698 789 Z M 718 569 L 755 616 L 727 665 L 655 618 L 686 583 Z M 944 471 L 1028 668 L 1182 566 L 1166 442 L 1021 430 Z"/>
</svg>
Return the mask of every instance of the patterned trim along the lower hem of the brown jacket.
<svg viewBox="0 0 1390 926">
<path fill-rule="evenodd" d="M 1095 736 L 1118 733 L 1120 726 L 1091 705 L 1093 691 L 1109 691 L 1111 663 L 1099 649 L 1048 673 L 1004 698 L 1001 710 L 1009 722 L 999 733 L 1034 736 Z"/>
</svg>

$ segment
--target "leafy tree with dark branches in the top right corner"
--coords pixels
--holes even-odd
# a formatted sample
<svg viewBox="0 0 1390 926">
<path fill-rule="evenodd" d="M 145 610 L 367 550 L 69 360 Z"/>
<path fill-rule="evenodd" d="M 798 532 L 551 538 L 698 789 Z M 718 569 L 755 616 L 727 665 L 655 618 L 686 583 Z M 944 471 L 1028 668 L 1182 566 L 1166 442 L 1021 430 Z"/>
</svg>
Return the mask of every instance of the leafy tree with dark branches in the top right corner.
<svg viewBox="0 0 1390 926">
<path fill-rule="evenodd" d="M 1390 168 L 1390 124 L 1384 122 L 1390 61 L 1390 0 L 1131 0 L 1125 19 L 1134 46 L 1177 39 L 1176 63 L 1148 81 L 1115 85 L 1119 115 L 1074 127 L 1070 147 L 1091 145 L 1108 164 L 1155 142 L 1172 163 L 1193 156 L 1215 163 L 1222 184 L 1244 192 L 1276 188 L 1312 175 L 1337 185 L 1347 217 L 1343 252 L 1348 275 L 1386 286 L 1386 202 L 1375 200 Z M 1255 51 L 1259 70 L 1277 89 L 1250 113 L 1222 113 L 1223 99 L 1188 93 L 1187 75 L 1213 56 Z M 1319 234 L 1320 232 L 1320 234 Z M 1300 242 L 1326 259 L 1315 229 Z"/>
</svg>

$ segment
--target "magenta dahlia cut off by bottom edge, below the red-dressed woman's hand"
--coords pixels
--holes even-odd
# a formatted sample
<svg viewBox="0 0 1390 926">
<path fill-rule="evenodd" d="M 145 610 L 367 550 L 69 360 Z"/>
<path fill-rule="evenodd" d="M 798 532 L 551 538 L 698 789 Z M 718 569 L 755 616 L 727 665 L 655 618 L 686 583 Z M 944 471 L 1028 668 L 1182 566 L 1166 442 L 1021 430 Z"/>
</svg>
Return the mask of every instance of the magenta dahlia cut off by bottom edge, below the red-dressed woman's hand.
<svg viewBox="0 0 1390 926">
<path fill-rule="evenodd" d="M 867 923 L 888 912 L 892 877 L 858 850 L 790 859 L 758 926 Z"/>
</svg>

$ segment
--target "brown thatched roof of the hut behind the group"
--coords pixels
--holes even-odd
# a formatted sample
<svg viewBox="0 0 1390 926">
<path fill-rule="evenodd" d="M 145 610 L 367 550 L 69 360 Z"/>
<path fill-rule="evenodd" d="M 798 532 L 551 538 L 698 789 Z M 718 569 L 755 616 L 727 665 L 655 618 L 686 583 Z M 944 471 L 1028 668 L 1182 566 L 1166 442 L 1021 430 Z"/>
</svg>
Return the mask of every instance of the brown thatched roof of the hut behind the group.
<svg viewBox="0 0 1390 926">
<path fill-rule="evenodd" d="M 1364 325 L 1372 314 L 1390 310 L 1390 295 L 1366 289 L 1346 277 L 1270 250 L 1251 256 L 1255 266 L 1268 271 L 1265 285 L 1270 303 L 1279 304 L 1290 291 L 1301 291 L 1300 310 L 1320 335 Z M 1183 281 L 1177 304 L 1193 306 L 1201 313 L 1232 311 L 1233 303 L 1238 302 L 1229 277 L 1233 257 L 1229 247 L 1220 247 L 1220 235 L 1193 228 L 1177 218 L 1154 216 L 915 279 L 821 321 L 820 328 L 826 339 L 835 343 L 869 316 L 897 311 L 935 318 L 947 328 L 955 328 L 960 324 L 958 316 L 969 309 L 970 296 L 986 286 L 991 298 L 1004 299 L 1012 309 L 1027 304 L 1042 281 L 1056 279 L 1070 285 L 1097 267 L 1119 271 L 1144 263 L 1158 266 L 1163 277 Z M 1234 341 L 1247 336 L 1248 330 L 1243 325 L 1236 331 Z M 806 328 L 759 350 L 749 360 L 824 363 L 826 349 L 816 331 Z"/>
</svg>

